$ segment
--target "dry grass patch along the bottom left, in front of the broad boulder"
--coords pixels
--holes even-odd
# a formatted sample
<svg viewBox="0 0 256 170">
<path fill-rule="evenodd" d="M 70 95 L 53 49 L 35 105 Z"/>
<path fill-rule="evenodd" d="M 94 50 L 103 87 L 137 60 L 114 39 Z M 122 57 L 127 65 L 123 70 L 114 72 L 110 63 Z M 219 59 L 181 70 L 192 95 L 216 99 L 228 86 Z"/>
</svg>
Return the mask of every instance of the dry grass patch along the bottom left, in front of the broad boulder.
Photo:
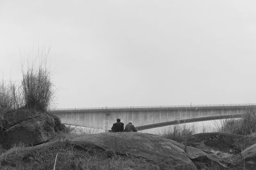
<svg viewBox="0 0 256 170">
<path fill-rule="evenodd" d="M 56 153 L 58 153 L 57 159 Z M 156 164 L 142 158 L 120 155 L 108 157 L 102 152 L 87 152 L 68 143 L 65 145 L 56 143 L 33 151 L 26 148 L 12 148 L 0 155 L 1 157 L 4 157 L 10 166 L 0 165 L 0 169 L 12 169 L 12 163 L 19 169 L 53 169 L 55 159 L 56 169 L 160 169 Z"/>
</svg>

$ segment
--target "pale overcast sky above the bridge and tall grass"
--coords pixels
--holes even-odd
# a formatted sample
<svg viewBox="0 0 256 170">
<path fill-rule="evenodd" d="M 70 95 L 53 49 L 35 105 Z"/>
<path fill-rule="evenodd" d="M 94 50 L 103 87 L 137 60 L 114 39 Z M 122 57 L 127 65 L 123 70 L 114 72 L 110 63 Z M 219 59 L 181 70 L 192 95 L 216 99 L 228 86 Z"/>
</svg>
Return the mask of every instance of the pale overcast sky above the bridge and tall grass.
<svg viewBox="0 0 256 170">
<path fill-rule="evenodd" d="M 54 108 L 256 103 L 256 1 L 0 0 L 0 78 L 47 53 Z"/>
</svg>

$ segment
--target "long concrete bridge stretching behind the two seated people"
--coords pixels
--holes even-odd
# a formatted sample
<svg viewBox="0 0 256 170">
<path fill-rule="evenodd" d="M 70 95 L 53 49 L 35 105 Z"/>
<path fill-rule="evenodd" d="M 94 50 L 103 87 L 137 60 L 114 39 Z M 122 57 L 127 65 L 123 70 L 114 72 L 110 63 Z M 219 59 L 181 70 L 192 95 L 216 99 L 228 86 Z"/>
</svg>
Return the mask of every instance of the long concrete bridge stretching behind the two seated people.
<svg viewBox="0 0 256 170">
<path fill-rule="evenodd" d="M 174 124 L 239 118 L 256 104 L 156 106 L 131 108 L 83 108 L 50 110 L 63 124 L 77 125 L 108 131 L 120 118 L 124 124 L 132 120 L 138 130 Z"/>
</svg>

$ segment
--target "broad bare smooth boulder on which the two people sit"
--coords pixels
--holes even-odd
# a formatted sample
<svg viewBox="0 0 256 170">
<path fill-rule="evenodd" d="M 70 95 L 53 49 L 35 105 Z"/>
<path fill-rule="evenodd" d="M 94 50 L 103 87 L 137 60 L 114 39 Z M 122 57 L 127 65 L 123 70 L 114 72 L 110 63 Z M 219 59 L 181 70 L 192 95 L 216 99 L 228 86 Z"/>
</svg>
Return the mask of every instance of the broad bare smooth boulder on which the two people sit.
<svg viewBox="0 0 256 170">
<path fill-rule="evenodd" d="M 142 157 L 158 164 L 161 169 L 196 169 L 193 162 L 170 139 L 138 132 L 91 134 L 86 138 L 72 139 L 73 145 L 86 148 L 93 143 L 119 155 Z"/>
</svg>

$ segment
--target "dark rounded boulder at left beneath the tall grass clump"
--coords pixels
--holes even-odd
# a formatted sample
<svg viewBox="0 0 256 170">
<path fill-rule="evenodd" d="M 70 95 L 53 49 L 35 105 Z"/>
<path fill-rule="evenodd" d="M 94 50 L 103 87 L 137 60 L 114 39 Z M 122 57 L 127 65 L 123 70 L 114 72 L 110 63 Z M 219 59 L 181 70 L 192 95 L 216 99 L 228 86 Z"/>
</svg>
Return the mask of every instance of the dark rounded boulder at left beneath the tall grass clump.
<svg viewBox="0 0 256 170">
<path fill-rule="evenodd" d="M 39 145 L 65 129 L 60 118 L 42 111 L 22 108 L 6 111 L 3 117 L 1 143 L 4 148 Z"/>
</svg>

